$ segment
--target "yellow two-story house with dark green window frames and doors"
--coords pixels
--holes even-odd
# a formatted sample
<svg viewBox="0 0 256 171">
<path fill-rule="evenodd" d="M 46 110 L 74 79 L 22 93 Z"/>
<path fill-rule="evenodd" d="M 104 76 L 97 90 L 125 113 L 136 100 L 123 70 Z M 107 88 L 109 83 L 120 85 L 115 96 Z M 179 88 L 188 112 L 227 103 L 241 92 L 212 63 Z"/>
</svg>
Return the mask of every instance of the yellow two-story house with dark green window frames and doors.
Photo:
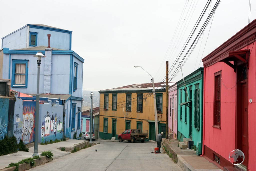
<svg viewBox="0 0 256 171">
<path fill-rule="evenodd" d="M 166 93 L 163 83 L 155 83 L 158 132 L 166 126 Z M 148 130 L 148 138 L 155 140 L 153 87 L 133 84 L 99 91 L 99 139 L 111 139 L 125 129 Z"/>
</svg>

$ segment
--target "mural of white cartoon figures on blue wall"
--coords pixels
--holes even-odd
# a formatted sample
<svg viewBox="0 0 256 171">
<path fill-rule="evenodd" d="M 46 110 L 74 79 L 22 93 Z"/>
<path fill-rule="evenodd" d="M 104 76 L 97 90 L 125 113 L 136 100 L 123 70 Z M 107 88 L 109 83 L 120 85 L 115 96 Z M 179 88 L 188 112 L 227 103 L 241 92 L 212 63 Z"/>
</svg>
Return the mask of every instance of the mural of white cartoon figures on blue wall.
<svg viewBox="0 0 256 171">
<path fill-rule="evenodd" d="M 61 110 L 60 110 L 61 111 Z M 60 113 L 62 114 L 62 113 Z M 60 115 L 59 114 L 59 115 Z M 58 116 L 57 113 L 50 114 L 47 111 L 46 115 L 43 117 L 43 122 L 41 126 L 41 142 L 62 138 L 62 116 Z"/>
</svg>

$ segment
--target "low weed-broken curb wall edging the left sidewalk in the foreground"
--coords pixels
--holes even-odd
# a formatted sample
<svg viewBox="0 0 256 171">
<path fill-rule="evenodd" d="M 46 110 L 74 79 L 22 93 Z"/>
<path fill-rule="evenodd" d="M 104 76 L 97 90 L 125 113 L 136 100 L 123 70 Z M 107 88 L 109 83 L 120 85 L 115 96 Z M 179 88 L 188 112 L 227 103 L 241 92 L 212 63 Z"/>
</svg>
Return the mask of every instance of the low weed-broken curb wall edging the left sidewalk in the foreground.
<svg viewBox="0 0 256 171">
<path fill-rule="evenodd" d="M 46 156 L 40 156 L 40 159 L 34 159 L 34 162 L 35 162 L 35 166 L 39 166 L 39 165 L 45 164 L 47 162 L 50 162 L 51 160 L 52 159 L 47 158 Z M 33 167 L 35 167 L 35 166 L 33 166 Z M 29 170 L 30 168 L 32 168 L 30 166 L 30 164 L 23 163 L 23 164 L 19 165 L 19 171 Z M 13 171 L 14 169 L 15 169 L 15 166 L 1 169 L 1 171 Z"/>
</svg>

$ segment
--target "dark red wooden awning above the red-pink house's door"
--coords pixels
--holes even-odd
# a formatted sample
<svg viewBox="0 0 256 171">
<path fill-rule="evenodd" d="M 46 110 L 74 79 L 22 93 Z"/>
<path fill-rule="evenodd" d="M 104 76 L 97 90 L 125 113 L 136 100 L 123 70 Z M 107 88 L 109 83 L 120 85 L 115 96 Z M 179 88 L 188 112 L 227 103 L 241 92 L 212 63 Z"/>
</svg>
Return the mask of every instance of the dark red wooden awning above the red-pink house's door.
<svg viewBox="0 0 256 171">
<path fill-rule="evenodd" d="M 231 63 L 232 61 L 233 64 Z M 249 68 L 249 50 L 230 51 L 229 55 L 219 62 L 224 62 L 225 64 L 233 68 L 234 72 L 236 72 L 236 67 L 243 63 L 246 64 L 247 68 Z"/>
</svg>

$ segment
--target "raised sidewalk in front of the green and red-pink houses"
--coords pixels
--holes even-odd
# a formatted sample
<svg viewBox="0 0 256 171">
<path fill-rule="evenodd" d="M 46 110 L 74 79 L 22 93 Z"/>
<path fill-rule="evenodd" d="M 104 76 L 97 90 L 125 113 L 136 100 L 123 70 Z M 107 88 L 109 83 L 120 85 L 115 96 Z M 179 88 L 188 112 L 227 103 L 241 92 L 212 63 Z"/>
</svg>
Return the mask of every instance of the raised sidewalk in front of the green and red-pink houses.
<svg viewBox="0 0 256 171">
<path fill-rule="evenodd" d="M 174 160 L 183 169 L 188 171 L 206 170 L 206 171 L 221 171 L 215 164 L 209 162 L 202 156 L 197 156 L 196 151 L 191 149 L 180 149 L 178 147 L 178 140 L 176 139 L 163 139 L 167 151 L 172 152 Z"/>
</svg>

